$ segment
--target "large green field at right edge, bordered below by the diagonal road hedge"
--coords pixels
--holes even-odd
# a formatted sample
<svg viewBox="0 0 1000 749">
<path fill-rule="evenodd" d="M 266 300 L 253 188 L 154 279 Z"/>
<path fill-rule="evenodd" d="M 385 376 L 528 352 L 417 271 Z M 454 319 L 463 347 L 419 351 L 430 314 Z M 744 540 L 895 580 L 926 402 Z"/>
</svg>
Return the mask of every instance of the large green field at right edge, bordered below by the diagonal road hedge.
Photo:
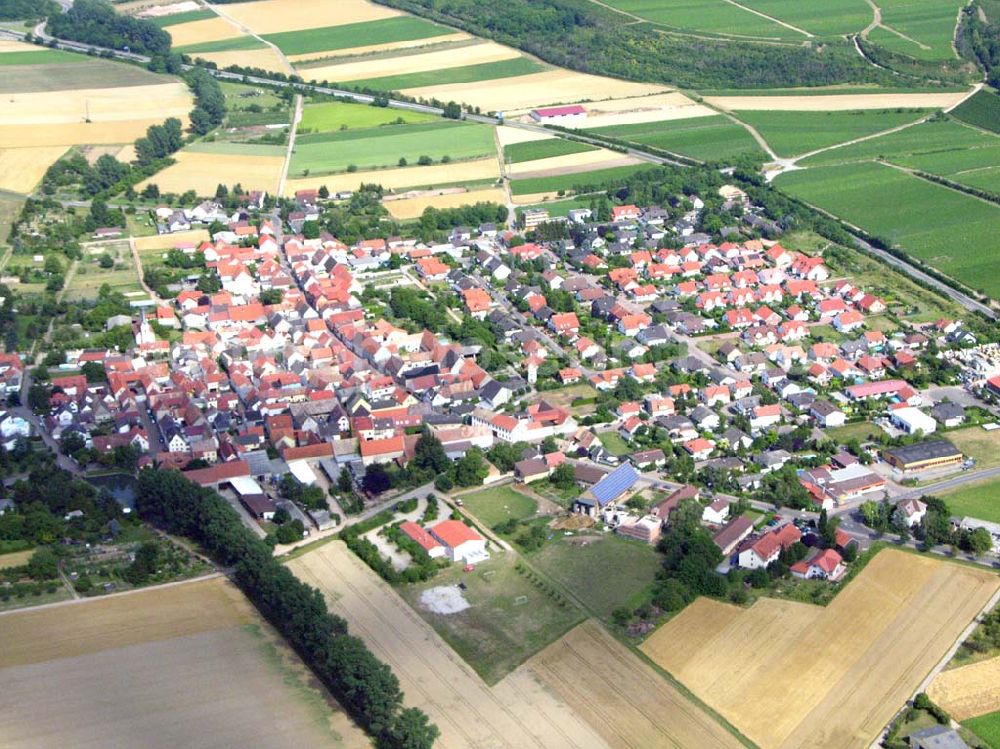
<svg viewBox="0 0 1000 749">
<path fill-rule="evenodd" d="M 972 288 L 1000 296 L 994 259 L 1000 206 L 876 163 L 790 172 L 776 182 Z"/>
</svg>

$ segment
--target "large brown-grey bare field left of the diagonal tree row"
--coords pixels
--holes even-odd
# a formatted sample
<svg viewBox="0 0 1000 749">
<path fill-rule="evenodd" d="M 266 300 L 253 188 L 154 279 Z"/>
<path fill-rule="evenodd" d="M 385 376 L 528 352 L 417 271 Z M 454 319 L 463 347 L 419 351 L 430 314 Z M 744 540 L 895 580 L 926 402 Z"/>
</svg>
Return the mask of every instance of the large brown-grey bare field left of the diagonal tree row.
<svg viewBox="0 0 1000 749">
<path fill-rule="evenodd" d="M 0 621 L 5 749 L 368 746 L 222 579 Z"/>
</svg>

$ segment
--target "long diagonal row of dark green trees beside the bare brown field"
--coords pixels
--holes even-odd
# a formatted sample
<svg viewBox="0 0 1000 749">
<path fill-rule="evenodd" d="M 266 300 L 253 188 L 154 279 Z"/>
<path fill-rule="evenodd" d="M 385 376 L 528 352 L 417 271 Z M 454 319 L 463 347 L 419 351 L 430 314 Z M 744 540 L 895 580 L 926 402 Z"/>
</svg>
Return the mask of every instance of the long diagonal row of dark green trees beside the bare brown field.
<svg viewBox="0 0 1000 749">
<path fill-rule="evenodd" d="M 164 529 L 196 539 L 235 579 L 261 613 L 277 627 L 383 749 L 423 749 L 438 729 L 415 708 L 403 707 L 399 681 L 347 623 L 331 614 L 323 595 L 301 582 L 249 531 L 216 492 L 171 470 L 139 475 L 140 515 Z"/>
</svg>

